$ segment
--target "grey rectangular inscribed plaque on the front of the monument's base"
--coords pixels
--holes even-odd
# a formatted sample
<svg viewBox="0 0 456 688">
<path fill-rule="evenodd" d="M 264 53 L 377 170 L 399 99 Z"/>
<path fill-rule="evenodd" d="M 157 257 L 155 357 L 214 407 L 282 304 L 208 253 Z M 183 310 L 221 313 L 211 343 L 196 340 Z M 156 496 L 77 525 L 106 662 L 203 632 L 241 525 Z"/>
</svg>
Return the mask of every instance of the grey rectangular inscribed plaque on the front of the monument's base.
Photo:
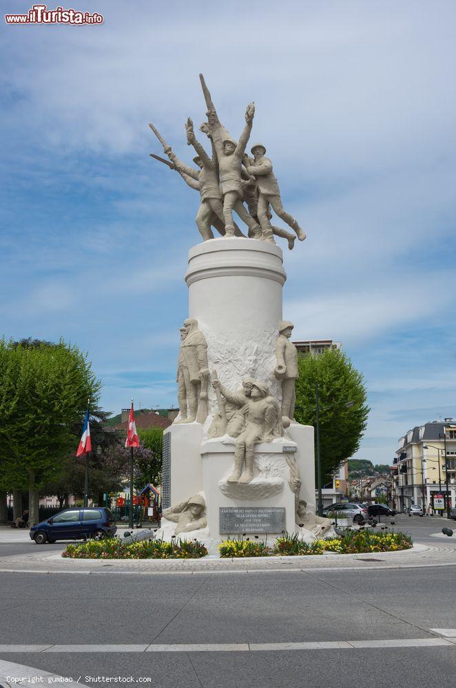
<svg viewBox="0 0 456 688">
<path fill-rule="evenodd" d="M 284 506 L 220 506 L 220 533 L 282 533 Z"/>
</svg>

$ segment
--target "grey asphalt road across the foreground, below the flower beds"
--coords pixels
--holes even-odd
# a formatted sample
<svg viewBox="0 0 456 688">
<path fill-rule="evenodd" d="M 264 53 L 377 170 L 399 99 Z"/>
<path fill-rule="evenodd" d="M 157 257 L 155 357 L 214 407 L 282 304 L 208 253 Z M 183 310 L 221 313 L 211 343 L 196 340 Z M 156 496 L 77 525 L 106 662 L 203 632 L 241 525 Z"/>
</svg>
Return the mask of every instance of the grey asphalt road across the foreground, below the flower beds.
<svg viewBox="0 0 456 688">
<path fill-rule="evenodd" d="M 96 677 L 120 676 L 133 677 L 123 685 L 149 678 L 151 686 L 173 688 L 448 688 L 456 675 L 456 645 L 420 644 L 439 642 L 430 629 L 456 625 L 453 579 L 453 568 L 445 567 L 153 577 L 0 574 L 0 645 L 68 646 L 50 652 L 1 648 L 0 660 L 93 686 L 101 683 Z M 276 643 L 318 641 L 374 646 L 275 649 Z M 144 649 L 149 643 L 202 647 L 112 647 Z M 266 645 L 247 652 L 214 648 L 220 643 Z M 75 645 L 87 647 L 76 652 Z"/>
</svg>

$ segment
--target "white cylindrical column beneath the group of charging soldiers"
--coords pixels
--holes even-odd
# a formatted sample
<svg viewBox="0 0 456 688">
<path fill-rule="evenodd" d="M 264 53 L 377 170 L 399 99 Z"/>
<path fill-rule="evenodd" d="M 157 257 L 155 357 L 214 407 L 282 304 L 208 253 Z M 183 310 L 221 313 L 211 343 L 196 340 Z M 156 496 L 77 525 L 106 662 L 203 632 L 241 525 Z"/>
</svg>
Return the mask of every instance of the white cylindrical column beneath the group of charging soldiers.
<svg viewBox="0 0 456 688">
<path fill-rule="evenodd" d="M 209 369 L 233 391 L 249 376 L 281 398 L 273 369 L 285 279 L 282 250 L 265 241 L 211 239 L 189 252 L 189 317 L 206 337 Z M 214 402 L 209 389 L 209 412 Z"/>
</svg>

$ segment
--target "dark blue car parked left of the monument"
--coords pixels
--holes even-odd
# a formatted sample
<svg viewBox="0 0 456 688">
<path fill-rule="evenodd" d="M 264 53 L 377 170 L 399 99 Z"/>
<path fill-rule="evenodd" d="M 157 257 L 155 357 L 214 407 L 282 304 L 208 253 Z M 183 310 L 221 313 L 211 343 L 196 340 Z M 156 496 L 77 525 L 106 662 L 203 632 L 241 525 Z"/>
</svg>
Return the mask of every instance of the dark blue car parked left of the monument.
<svg viewBox="0 0 456 688">
<path fill-rule="evenodd" d="M 60 511 L 47 521 L 32 526 L 30 538 L 37 545 L 43 545 L 56 540 L 113 537 L 116 530 L 112 511 L 105 506 L 92 506 Z"/>
</svg>

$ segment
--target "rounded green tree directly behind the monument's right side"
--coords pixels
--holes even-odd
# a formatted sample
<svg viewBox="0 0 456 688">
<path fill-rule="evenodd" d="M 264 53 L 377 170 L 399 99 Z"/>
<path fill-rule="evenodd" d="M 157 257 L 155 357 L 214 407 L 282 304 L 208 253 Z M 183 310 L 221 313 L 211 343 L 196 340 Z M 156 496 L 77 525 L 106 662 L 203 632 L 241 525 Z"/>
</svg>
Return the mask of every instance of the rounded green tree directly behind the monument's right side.
<svg viewBox="0 0 456 688">
<path fill-rule="evenodd" d="M 323 484 L 331 480 L 340 463 L 360 446 L 369 407 L 362 374 L 339 350 L 318 356 L 298 356 L 295 418 L 315 425 L 315 384 L 320 406 L 320 452 Z M 347 408 L 346 402 L 353 402 Z"/>
</svg>

